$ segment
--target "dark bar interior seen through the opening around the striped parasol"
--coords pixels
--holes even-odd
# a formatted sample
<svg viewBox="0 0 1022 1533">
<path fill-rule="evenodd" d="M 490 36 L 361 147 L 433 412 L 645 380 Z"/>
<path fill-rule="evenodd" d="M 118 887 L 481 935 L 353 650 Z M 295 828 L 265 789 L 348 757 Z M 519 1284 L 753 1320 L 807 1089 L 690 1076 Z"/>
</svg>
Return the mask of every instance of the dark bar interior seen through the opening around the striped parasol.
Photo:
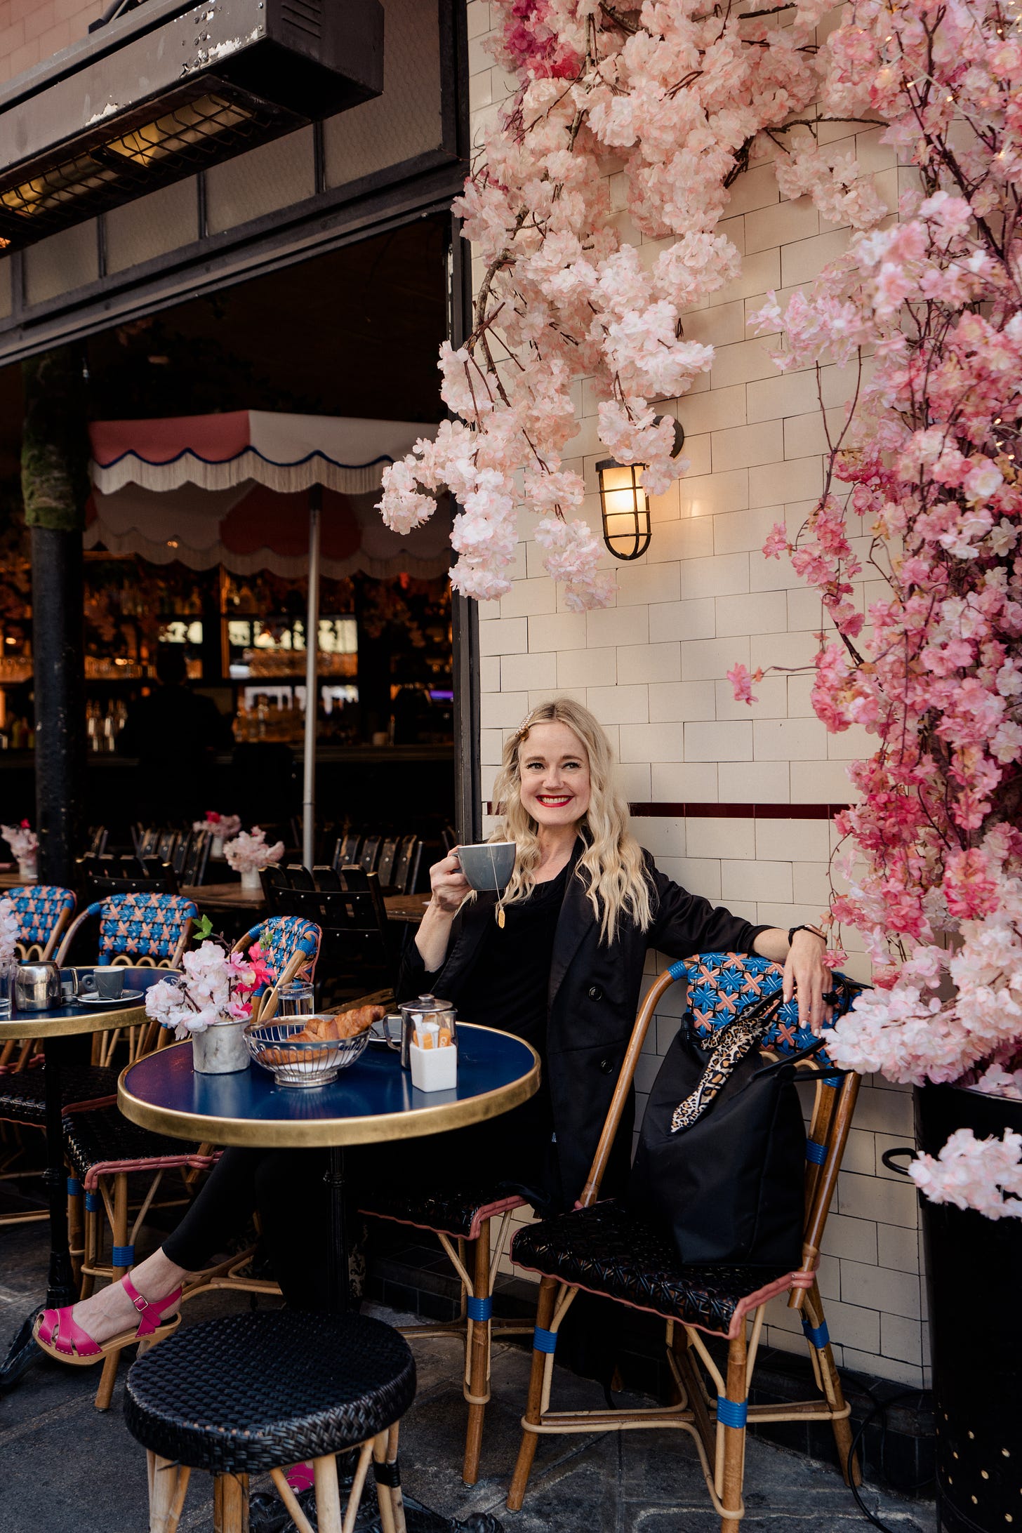
<svg viewBox="0 0 1022 1533">
<path fill-rule="evenodd" d="M 438 215 L 204 294 L 89 339 L 89 415 L 129 420 L 237 409 L 435 423 L 447 334 L 449 221 Z M 28 537 L 20 512 L 20 369 L 0 373 L 0 797 L 34 817 Z M 196 816 L 280 828 L 300 812 L 305 575 L 156 564 L 86 552 L 89 825 L 123 840 L 146 783 L 120 750 L 126 719 L 175 648 L 224 736 Z M 317 831 L 438 835 L 455 817 L 450 593 L 443 570 L 352 569 L 320 583 Z M 176 808 L 182 808 L 178 805 Z M 320 852 L 320 854 L 322 854 Z"/>
</svg>

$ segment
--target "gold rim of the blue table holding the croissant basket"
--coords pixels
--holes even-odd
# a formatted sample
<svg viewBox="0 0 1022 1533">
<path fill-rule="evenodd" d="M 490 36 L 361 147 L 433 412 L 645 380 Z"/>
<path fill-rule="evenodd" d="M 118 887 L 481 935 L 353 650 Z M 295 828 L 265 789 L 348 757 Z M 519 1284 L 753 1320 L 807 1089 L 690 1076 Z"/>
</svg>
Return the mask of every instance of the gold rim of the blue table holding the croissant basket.
<svg viewBox="0 0 1022 1533">
<path fill-rule="evenodd" d="M 291 1118 L 260 1118 L 253 1122 L 250 1118 L 211 1118 L 207 1113 L 185 1113 L 175 1107 L 153 1107 L 141 1098 L 133 1096 L 124 1085 L 124 1076 L 133 1065 L 127 1064 L 121 1070 L 116 1082 L 116 1105 L 130 1122 L 141 1128 L 152 1128 L 156 1133 L 170 1134 L 172 1139 L 198 1139 L 224 1145 L 250 1145 L 259 1150 L 325 1150 L 331 1145 L 382 1144 L 394 1139 L 420 1139 L 423 1134 L 443 1133 L 450 1128 L 464 1128 L 469 1124 L 481 1124 L 489 1118 L 500 1118 L 512 1107 L 529 1101 L 539 1090 L 539 1055 L 515 1033 L 506 1033 L 500 1027 L 483 1029 L 480 1023 L 458 1023 L 458 1029 L 472 1027 L 480 1032 L 501 1033 L 513 1038 L 532 1055 L 532 1069 L 509 1085 L 493 1087 L 492 1091 L 481 1091 L 463 1102 L 438 1102 L 435 1107 L 415 1107 L 403 1113 L 375 1113 L 371 1118 L 326 1118 L 319 1122 Z M 181 1044 L 170 1044 L 170 1049 L 184 1049 Z M 167 1049 L 159 1050 L 167 1053 Z M 141 1064 L 142 1061 L 135 1061 Z M 397 1064 L 397 1061 L 395 1061 Z M 398 1065 L 400 1069 L 400 1065 Z M 343 1124 L 348 1131 L 337 1134 L 337 1127 Z"/>
</svg>

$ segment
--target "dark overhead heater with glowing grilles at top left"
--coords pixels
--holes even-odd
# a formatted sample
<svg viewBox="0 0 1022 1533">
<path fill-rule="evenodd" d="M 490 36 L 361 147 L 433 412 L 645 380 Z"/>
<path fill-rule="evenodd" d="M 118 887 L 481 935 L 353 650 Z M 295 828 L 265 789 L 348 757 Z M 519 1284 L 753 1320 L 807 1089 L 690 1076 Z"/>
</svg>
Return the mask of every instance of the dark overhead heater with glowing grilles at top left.
<svg viewBox="0 0 1022 1533">
<path fill-rule="evenodd" d="M 0 245 L 382 90 L 378 0 L 147 0 L 0 94 Z"/>
</svg>

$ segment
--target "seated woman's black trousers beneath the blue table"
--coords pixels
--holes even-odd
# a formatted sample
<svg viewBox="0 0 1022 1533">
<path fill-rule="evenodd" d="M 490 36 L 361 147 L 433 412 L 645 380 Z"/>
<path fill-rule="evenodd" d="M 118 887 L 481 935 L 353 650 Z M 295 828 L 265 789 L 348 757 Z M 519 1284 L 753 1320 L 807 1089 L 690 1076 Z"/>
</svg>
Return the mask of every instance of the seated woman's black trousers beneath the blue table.
<svg viewBox="0 0 1022 1533">
<path fill-rule="evenodd" d="M 348 1205 L 359 1191 L 398 1185 L 435 1191 L 501 1182 L 541 1203 L 550 1154 L 549 1108 L 532 1098 L 503 1118 L 395 1144 L 355 1145 L 345 1154 Z M 259 1211 L 262 1245 L 288 1305 L 325 1309 L 329 1251 L 326 1150 L 225 1150 L 164 1252 L 188 1272 L 239 1236 Z"/>
</svg>

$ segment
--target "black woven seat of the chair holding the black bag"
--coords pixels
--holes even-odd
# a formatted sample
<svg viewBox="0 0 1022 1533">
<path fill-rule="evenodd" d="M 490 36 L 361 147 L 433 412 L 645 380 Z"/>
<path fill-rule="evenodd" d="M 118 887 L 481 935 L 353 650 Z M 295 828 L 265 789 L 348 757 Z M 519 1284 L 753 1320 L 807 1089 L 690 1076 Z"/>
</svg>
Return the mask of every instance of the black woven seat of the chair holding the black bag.
<svg viewBox="0 0 1022 1533">
<path fill-rule="evenodd" d="M 682 1266 L 662 1231 L 613 1199 L 526 1225 L 510 1254 L 542 1277 L 726 1337 L 792 1279 L 775 1266 Z"/>
</svg>

